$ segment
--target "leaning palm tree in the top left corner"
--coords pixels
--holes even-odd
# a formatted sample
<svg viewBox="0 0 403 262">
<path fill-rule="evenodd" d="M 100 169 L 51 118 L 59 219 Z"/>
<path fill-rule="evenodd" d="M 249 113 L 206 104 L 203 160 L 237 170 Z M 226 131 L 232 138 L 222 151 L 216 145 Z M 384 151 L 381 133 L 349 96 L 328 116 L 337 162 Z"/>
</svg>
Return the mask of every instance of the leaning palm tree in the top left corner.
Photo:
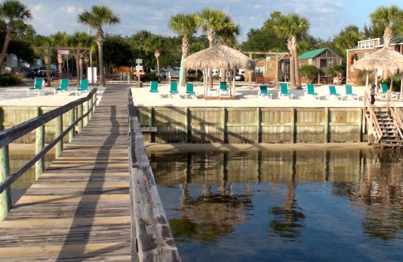
<svg viewBox="0 0 403 262">
<path fill-rule="evenodd" d="M 4 44 L 2 52 L 0 53 L 0 67 L 3 64 L 4 57 L 6 56 L 7 48 L 9 47 L 11 34 L 15 30 L 14 23 L 17 20 L 25 21 L 32 18 L 31 10 L 24 4 L 21 4 L 16 0 L 6 0 L 3 4 L 0 4 L 0 16 L 6 20 L 6 38 L 4 39 Z"/>
</svg>

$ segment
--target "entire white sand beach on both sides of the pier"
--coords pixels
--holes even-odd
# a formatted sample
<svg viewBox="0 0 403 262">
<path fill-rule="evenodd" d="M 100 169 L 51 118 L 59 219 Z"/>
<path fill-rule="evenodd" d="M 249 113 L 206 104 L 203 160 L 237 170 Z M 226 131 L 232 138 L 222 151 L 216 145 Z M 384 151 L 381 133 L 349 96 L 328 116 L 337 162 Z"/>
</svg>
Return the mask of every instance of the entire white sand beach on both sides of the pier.
<svg viewBox="0 0 403 262">
<path fill-rule="evenodd" d="M 31 81 L 32 82 L 32 81 Z M 252 84 L 252 88 L 248 89 L 247 82 L 236 82 L 236 100 L 205 100 L 203 99 L 203 83 L 194 83 L 194 91 L 197 93 L 197 99 L 184 98 L 184 87 L 178 87 L 181 93 L 180 97 L 168 98 L 168 83 L 158 84 L 158 89 L 161 94 L 161 98 L 149 97 L 150 84 L 144 83 L 142 88 L 136 88 L 135 83 L 127 85 L 130 87 L 133 94 L 133 102 L 139 106 L 177 106 L 177 107 L 362 107 L 363 106 L 363 93 L 364 87 L 353 87 L 353 92 L 360 95 L 359 101 L 341 101 L 339 99 L 326 99 L 328 93 L 328 86 L 315 86 L 315 92 L 319 94 L 320 100 L 306 99 L 304 93 L 306 86 L 303 85 L 302 90 L 289 88 L 289 91 L 294 94 L 293 99 L 286 97 L 280 99 L 278 97 L 279 89 L 274 89 L 269 86 L 267 90 L 273 94 L 273 99 L 259 98 L 257 92 L 259 90 L 258 85 Z M 218 83 L 214 83 L 218 88 Z M 69 102 L 72 102 L 80 97 L 84 97 L 87 94 L 81 94 L 76 96 L 74 90 L 76 87 L 70 87 L 71 91 L 66 95 L 58 93 L 53 96 L 53 90 L 57 88 L 48 87 L 40 91 L 39 96 L 28 96 L 27 89 L 30 85 L 18 86 L 18 87 L 4 87 L 0 88 L 0 106 L 62 106 Z M 90 87 L 91 89 L 91 87 Z M 105 90 L 103 87 L 98 87 L 97 97 L 98 103 L 102 97 L 102 93 Z M 336 86 L 336 90 L 339 94 L 345 93 L 344 86 Z M 396 106 L 403 107 L 403 102 L 396 102 Z M 377 100 L 375 106 L 385 105 L 384 100 Z"/>
</svg>

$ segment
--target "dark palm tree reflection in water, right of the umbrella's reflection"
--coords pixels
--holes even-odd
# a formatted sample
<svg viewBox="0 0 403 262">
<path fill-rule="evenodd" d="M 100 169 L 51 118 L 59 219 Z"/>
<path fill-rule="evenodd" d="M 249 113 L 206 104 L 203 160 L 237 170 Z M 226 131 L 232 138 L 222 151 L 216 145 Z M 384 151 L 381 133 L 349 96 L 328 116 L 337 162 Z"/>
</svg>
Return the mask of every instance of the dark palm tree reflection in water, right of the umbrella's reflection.
<svg viewBox="0 0 403 262">
<path fill-rule="evenodd" d="M 270 222 L 270 227 L 281 237 L 295 238 L 300 236 L 298 228 L 304 227 L 301 223 L 305 219 L 305 215 L 296 204 L 295 182 L 296 174 L 296 152 L 293 153 L 293 166 L 291 181 L 287 183 L 287 199 L 284 201 L 283 207 L 273 207 L 272 214 L 275 218 Z"/>
</svg>

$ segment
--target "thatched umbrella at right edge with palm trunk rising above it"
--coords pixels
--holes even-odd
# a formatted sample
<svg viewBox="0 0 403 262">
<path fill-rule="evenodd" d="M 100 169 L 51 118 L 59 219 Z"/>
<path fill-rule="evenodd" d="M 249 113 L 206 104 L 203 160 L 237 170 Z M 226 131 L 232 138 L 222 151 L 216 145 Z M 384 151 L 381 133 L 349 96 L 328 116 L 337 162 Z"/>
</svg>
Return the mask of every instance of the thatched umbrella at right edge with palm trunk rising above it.
<svg viewBox="0 0 403 262">
<path fill-rule="evenodd" d="M 403 55 L 397 51 L 390 48 L 390 41 L 393 37 L 391 29 L 388 27 L 385 30 L 383 40 L 384 47 L 369 54 L 361 59 L 354 62 L 351 70 L 366 70 L 367 71 L 367 86 L 368 86 L 368 71 L 373 70 L 387 70 L 392 74 L 397 73 L 397 71 L 403 70 Z M 375 78 L 375 84 L 377 85 L 377 78 Z M 392 90 L 393 76 L 390 78 L 390 91 Z M 403 74 L 402 81 L 400 85 L 400 99 L 403 93 Z"/>
</svg>

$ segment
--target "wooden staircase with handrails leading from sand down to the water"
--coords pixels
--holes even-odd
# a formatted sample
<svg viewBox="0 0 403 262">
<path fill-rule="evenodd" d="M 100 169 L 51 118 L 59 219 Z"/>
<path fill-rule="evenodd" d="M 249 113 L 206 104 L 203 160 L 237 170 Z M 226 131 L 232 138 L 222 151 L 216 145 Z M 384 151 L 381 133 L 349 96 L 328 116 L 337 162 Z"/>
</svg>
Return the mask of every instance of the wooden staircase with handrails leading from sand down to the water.
<svg viewBox="0 0 403 262">
<path fill-rule="evenodd" d="M 386 95 L 384 107 L 374 107 L 369 101 L 370 98 L 365 92 L 364 115 L 368 123 L 368 144 L 372 142 L 371 136 L 373 136 L 375 148 L 402 148 L 403 123 L 391 99 L 390 92 Z M 364 128 L 365 126 L 363 126 L 363 131 Z"/>
</svg>

